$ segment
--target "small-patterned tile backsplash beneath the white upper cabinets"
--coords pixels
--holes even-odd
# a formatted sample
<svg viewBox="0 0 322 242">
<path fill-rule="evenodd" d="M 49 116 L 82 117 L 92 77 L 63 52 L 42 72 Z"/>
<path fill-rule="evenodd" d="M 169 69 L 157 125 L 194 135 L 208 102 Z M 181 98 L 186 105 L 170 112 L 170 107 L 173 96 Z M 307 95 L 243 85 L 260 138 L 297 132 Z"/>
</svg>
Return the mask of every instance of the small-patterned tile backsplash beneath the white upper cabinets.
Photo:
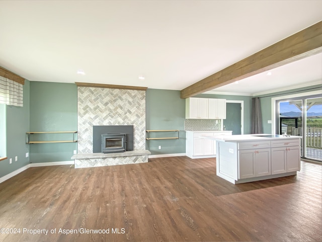
<svg viewBox="0 0 322 242">
<path fill-rule="evenodd" d="M 217 121 L 217 124 L 216 124 Z M 221 119 L 185 119 L 185 131 L 220 131 Z"/>
</svg>

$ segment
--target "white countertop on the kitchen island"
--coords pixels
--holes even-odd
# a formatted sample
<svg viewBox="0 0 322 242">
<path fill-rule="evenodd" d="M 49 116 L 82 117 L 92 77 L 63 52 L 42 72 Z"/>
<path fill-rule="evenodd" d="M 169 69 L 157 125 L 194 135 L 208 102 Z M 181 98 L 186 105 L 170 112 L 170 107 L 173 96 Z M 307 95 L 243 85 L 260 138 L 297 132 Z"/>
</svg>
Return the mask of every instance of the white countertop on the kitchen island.
<svg viewBox="0 0 322 242">
<path fill-rule="evenodd" d="M 282 136 L 267 138 L 260 137 L 261 135 L 270 135 L 270 134 L 257 134 L 257 135 L 221 135 L 221 136 L 202 136 L 204 139 L 211 139 L 223 142 L 237 142 L 237 141 L 266 141 L 266 140 L 284 140 L 284 139 L 299 139 L 302 136 Z"/>
</svg>

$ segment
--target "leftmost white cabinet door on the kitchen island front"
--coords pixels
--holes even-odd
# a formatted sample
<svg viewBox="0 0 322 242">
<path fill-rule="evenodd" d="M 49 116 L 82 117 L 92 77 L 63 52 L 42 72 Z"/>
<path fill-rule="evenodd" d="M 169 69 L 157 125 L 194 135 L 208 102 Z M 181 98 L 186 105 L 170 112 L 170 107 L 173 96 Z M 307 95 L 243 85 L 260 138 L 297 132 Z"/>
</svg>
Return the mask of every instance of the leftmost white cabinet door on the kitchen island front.
<svg viewBox="0 0 322 242">
<path fill-rule="evenodd" d="M 256 176 L 255 150 L 239 150 L 238 179 Z"/>
</svg>

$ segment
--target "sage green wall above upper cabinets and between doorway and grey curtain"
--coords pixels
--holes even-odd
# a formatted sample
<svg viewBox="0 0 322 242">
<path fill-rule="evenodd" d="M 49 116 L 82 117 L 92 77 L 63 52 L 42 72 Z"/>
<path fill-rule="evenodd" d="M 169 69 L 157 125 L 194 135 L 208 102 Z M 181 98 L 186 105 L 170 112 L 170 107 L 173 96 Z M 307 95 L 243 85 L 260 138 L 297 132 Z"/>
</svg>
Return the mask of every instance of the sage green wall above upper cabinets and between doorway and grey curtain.
<svg viewBox="0 0 322 242">
<path fill-rule="evenodd" d="M 244 134 L 251 134 L 251 120 L 252 120 L 252 97 L 237 96 L 237 95 L 219 95 L 219 94 L 198 94 L 195 97 L 203 98 L 222 98 L 226 100 L 244 101 Z"/>
</svg>

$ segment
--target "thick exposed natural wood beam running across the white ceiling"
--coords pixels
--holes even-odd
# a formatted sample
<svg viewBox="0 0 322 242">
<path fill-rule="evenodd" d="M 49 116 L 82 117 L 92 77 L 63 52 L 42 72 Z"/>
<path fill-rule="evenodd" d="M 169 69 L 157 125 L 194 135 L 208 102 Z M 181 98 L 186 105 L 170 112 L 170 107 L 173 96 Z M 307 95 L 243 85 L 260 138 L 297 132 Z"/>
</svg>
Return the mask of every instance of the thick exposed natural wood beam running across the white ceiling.
<svg viewBox="0 0 322 242">
<path fill-rule="evenodd" d="M 181 98 L 192 97 L 320 52 L 322 21 L 181 90 Z"/>
</svg>

